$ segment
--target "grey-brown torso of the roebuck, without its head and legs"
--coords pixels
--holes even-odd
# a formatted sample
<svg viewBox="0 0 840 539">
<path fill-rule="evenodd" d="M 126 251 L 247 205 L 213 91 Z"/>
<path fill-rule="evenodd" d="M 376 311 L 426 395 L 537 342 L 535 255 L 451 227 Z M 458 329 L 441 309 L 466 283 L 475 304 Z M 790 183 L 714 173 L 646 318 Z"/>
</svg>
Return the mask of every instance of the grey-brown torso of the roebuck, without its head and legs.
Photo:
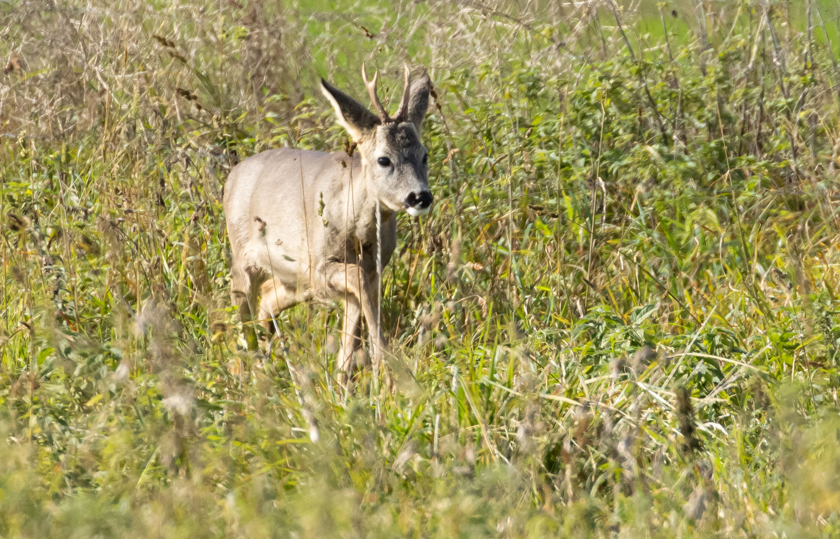
<svg viewBox="0 0 840 539">
<path fill-rule="evenodd" d="M 330 262 L 374 271 L 376 201 L 364 180 L 359 156 L 344 153 L 273 149 L 237 165 L 224 196 L 234 275 L 259 271 L 296 290 L 297 303 L 334 299 L 324 280 Z M 386 264 L 396 245 L 395 212 L 383 209 L 381 236 Z"/>
</svg>

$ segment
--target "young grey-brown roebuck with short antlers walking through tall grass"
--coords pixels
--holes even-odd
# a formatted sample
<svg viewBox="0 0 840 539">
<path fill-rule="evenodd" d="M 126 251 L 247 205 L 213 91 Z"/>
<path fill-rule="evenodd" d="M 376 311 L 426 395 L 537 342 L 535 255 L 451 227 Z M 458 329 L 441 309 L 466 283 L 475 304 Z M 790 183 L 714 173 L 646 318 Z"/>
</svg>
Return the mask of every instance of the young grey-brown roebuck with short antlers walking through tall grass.
<svg viewBox="0 0 840 539">
<path fill-rule="evenodd" d="M 339 125 L 357 144 L 352 156 L 271 149 L 236 165 L 224 187 L 231 296 L 249 348 L 257 344 L 256 306 L 268 327 L 301 301 L 344 300 L 339 379 L 351 369 L 362 315 L 378 374 L 384 338 L 377 265 L 385 266 L 396 247 L 396 212 L 421 215 L 432 204 L 428 151 L 420 143 L 431 82 L 425 73 L 412 82 L 406 67 L 402 101 L 391 118 L 376 95 L 377 76 L 368 81 L 362 68 L 376 114 L 321 80 Z"/>
</svg>

